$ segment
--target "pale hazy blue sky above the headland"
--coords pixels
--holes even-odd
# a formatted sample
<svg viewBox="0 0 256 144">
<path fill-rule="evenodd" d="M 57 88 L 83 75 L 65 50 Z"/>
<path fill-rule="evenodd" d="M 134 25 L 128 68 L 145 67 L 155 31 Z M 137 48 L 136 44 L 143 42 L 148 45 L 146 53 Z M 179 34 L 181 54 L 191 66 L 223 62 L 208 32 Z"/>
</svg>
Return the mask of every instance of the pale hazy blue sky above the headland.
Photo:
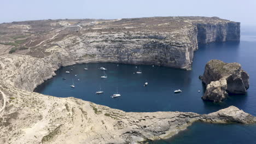
<svg viewBox="0 0 256 144">
<path fill-rule="evenodd" d="M 0 23 L 45 19 L 218 16 L 256 26 L 256 0 L 0 0 Z"/>
</svg>

